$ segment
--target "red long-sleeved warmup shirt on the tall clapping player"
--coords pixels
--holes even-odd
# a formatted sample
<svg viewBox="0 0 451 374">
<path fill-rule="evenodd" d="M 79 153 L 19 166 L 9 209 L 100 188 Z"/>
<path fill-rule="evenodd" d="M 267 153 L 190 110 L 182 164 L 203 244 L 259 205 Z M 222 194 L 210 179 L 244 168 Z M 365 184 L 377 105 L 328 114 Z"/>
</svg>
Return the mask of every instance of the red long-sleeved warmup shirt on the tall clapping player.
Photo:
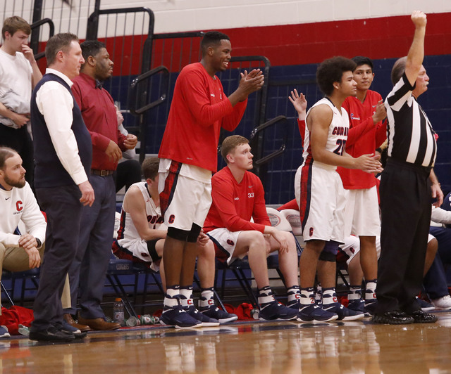
<svg viewBox="0 0 451 374">
<path fill-rule="evenodd" d="M 233 131 L 245 112 L 247 99 L 232 106 L 218 77 L 201 63 L 183 67 L 175 82 L 173 101 L 159 158 L 216 172 L 221 127 Z"/>
</svg>

